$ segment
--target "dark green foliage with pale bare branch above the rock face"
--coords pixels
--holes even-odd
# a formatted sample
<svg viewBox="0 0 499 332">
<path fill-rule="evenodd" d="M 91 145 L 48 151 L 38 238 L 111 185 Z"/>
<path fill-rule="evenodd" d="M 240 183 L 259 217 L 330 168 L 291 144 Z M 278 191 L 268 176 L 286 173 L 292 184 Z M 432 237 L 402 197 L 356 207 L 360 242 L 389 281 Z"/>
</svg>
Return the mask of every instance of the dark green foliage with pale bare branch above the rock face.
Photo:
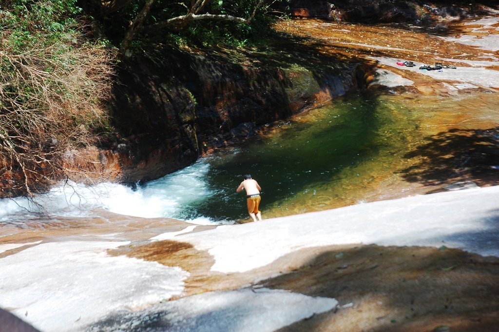
<svg viewBox="0 0 499 332">
<path fill-rule="evenodd" d="M 98 20 L 106 37 L 123 52 L 158 43 L 259 43 L 272 35 L 270 25 L 275 20 L 267 14 L 269 5 L 263 0 L 116 0 L 104 4 L 91 0 L 85 11 Z"/>
</svg>

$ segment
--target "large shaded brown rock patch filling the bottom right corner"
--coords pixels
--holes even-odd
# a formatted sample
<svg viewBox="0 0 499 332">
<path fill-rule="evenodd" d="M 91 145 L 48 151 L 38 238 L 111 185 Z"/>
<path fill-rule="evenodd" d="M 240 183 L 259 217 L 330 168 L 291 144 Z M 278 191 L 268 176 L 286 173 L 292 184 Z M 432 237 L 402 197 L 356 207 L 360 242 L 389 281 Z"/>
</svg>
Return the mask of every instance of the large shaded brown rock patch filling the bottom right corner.
<svg viewBox="0 0 499 332">
<path fill-rule="evenodd" d="M 279 332 L 496 331 L 499 261 L 457 249 L 359 246 L 325 251 L 264 287 L 338 300 Z M 443 330 L 447 331 L 447 330 Z"/>
</svg>

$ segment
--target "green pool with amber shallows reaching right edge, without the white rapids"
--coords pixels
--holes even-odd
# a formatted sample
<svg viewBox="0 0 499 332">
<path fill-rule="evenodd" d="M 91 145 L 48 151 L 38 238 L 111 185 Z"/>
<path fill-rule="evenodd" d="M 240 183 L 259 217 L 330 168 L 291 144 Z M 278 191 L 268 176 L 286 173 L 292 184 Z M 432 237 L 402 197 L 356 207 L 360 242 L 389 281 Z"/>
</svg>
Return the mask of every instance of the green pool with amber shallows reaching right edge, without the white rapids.
<svg viewBox="0 0 499 332">
<path fill-rule="evenodd" d="M 266 218 L 429 191 L 421 176 L 411 176 L 431 173 L 428 156 L 419 149 L 432 144 L 439 133 L 452 135 L 453 129 L 466 133 L 494 128 L 498 125 L 494 105 L 498 98 L 488 93 L 451 97 L 364 91 L 337 98 L 191 166 L 190 171 L 200 176 L 202 195 L 182 202 L 174 217 L 247 218 L 245 195 L 235 192 L 245 173 L 262 187 Z M 463 156 L 445 149 L 436 146 L 432 153 L 448 155 L 448 164 L 434 167 L 452 169 L 456 158 Z M 152 181 L 142 189 L 166 189 L 177 176 Z M 449 179 L 442 174 L 433 182 L 445 184 Z"/>
</svg>

